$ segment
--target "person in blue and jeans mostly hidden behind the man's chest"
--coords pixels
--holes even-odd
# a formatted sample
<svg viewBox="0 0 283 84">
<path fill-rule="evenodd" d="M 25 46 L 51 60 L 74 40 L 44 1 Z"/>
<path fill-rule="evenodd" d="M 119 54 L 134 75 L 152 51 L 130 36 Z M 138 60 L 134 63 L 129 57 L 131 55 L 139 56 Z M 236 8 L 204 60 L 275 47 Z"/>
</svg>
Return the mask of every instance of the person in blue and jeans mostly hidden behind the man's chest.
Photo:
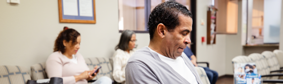
<svg viewBox="0 0 283 84">
<path fill-rule="evenodd" d="M 197 58 L 196 56 L 193 54 L 192 50 L 188 47 L 186 47 L 184 49 L 184 53 L 186 54 L 186 56 L 192 61 L 192 63 L 195 65 L 195 66 L 198 66 L 197 64 Z M 203 67 L 205 72 L 206 72 L 206 75 L 209 79 L 209 82 L 211 84 L 215 84 L 217 79 L 218 79 L 218 73 L 214 70 L 211 70 L 209 69 L 208 67 Z"/>
</svg>

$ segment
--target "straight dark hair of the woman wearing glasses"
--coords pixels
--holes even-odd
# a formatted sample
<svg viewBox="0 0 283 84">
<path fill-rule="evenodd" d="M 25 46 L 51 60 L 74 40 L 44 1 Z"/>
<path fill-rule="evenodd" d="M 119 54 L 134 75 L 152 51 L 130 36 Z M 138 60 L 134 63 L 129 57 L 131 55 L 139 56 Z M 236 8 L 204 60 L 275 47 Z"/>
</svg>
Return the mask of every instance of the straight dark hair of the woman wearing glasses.
<svg viewBox="0 0 283 84">
<path fill-rule="evenodd" d="M 123 51 L 126 51 L 129 49 L 129 41 L 132 38 L 132 34 L 135 34 L 131 30 L 124 30 L 121 34 L 119 44 L 115 47 L 115 50 L 121 49 Z"/>
</svg>

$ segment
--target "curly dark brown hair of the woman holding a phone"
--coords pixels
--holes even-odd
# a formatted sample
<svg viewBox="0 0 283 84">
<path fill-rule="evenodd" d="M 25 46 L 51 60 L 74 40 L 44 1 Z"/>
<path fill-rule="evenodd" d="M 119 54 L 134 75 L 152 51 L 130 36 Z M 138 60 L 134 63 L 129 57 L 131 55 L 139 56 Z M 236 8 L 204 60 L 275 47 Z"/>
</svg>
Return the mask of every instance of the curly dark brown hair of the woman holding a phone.
<svg viewBox="0 0 283 84">
<path fill-rule="evenodd" d="M 64 27 L 58 37 L 55 40 L 54 52 L 60 51 L 62 54 L 65 53 L 65 46 L 63 45 L 63 40 L 67 42 L 72 41 L 72 45 L 77 43 L 77 37 L 80 36 L 80 33 L 75 29 Z"/>
</svg>

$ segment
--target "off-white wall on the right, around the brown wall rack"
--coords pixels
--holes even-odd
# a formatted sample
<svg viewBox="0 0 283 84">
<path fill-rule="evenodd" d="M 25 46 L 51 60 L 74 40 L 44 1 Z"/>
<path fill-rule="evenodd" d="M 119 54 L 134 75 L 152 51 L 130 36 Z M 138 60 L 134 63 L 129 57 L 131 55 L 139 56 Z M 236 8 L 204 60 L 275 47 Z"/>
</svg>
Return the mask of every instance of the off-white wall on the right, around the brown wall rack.
<svg viewBox="0 0 283 84">
<path fill-rule="evenodd" d="M 204 3 L 206 2 L 206 3 Z M 221 1 L 215 1 L 223 2 Z M 241 4 L 240 4 L 241 3 Z M 216 44 L 207 45 L 201 43 L 201 37 L 206 37 L 206 25 L 201 25 L 201 19 L 206 22 L 207 7 L 211 5 L 211 0 L 197 1 L 197 58 L 199 62 L 209 62 L 210 69 L 216 70 L 219 74 L 233 74 L 231 60 L 239 55 L 243 55 L 242 46 L 242 12 L 238 12 L 238 33 L 237 34 L 216 34 Z M 242 2 L 238 3 L 238 10 L 242 10 Z M 221 16 L 216 16 L 221 17 Z M 217 19 L 216 19 L 217 20 Z M 221 23 L 216 24 L 221 25 Z"/>
</svg>

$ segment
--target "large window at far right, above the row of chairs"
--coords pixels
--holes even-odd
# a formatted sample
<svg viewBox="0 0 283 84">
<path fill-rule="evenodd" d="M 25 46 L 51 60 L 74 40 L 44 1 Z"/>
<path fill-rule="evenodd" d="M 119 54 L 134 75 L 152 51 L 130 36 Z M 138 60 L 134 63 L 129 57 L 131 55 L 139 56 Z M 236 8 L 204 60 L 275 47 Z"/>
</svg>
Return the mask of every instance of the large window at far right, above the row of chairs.
<svg viewBox="0 0 283 84">
<path fill-rule="evenodd" d="M 278 44 L 281 17 L 281 0 L 248 1 L 247 36 L 248 45 Z"/>
</svg>

